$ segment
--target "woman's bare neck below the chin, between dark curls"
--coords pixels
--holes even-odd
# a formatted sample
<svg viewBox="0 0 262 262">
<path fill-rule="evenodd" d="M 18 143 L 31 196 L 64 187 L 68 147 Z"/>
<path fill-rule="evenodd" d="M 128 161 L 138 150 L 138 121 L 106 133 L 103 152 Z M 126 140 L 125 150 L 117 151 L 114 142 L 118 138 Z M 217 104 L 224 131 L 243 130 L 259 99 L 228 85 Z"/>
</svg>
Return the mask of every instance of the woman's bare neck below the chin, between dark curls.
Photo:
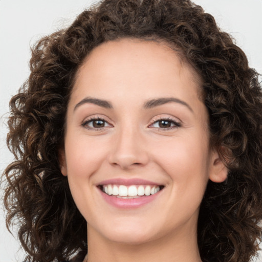
<svg viewBox="0 0 262 262">
<path fill-rule="evenodd" d="M 110 241 L 88 227 L 88 262 L 201 262 L 197 230 L 170 232 L 140 244 Z M 87 258 L 87 257 L 86 257 Z"/>
</svg>

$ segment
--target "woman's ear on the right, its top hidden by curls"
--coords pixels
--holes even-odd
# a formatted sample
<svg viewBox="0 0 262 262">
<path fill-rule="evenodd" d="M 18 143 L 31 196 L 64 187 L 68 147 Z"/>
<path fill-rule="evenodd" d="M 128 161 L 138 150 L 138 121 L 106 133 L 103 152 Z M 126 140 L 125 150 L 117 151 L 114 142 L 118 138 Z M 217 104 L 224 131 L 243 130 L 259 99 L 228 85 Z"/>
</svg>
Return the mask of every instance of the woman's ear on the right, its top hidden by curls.
<svg viewBox="0 0 262 262">
<path fill-rule="evenodd" d="M 215 183 L 224 182 L 227 179 L 228 169 L 216 150 L 212 151 L 209 179 Z"/>
</svg>

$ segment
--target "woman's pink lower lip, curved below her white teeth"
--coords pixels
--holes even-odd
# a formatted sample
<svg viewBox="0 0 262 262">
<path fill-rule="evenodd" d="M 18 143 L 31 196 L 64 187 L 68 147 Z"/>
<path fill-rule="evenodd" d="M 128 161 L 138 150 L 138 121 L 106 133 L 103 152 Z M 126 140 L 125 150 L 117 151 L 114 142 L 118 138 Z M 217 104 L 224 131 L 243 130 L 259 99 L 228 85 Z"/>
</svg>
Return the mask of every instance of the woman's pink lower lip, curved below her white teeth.
<svg viewBox="0 0 262 262">
<path fill-rule="evenodd" d="M 144 195 L 143 197 L 140 198 L 136 198 L 136 199 L 121 199 L 121 198 L 117 198 L 114 195 L 108 195 L 106 193 L 104 193 L 103 191 L 101 191 L 100 189 L 98 189 L 103 197 L 103 199 L 108 203 L 111 204 L 112 206 L 115 206 L 117 208 L 138 208 L 141 207 L 147 203 L 150 203 L 152 201 L 154 201 L 158 195 L 160 194 L 160 191 L 158 191 L 155 194 L 151 194 L 151 195 Z"/>
</svg>

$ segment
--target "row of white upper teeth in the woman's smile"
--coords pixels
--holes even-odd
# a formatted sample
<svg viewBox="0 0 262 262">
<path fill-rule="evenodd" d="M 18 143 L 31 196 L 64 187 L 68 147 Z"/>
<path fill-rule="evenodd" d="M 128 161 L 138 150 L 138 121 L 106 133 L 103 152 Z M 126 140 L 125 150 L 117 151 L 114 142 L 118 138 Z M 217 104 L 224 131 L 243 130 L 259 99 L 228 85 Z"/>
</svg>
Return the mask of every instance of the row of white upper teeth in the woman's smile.
<svg viewBox="0 0 262 262">
<path fill-rule="evenodd" d="M 103 185 L 103 192 L 109 195 L 117 195 L 119 197 L 136 197 L 142 195 L 150 195 L 157 193 L 159 190 L 159 186 L 153 185 Z"/>
</svg>

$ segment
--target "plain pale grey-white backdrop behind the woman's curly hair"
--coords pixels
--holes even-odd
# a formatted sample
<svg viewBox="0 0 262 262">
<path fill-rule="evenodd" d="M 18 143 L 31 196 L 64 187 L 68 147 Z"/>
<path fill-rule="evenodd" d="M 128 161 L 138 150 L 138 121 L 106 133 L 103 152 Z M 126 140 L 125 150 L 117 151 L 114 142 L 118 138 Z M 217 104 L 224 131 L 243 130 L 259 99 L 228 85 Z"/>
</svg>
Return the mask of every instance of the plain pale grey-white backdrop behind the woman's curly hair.
<svg viewBox="0 0 262 262">
<path fill-rule="evenodd" d="M 28 78 L 30 45 L 41 36 L 70 25 L 91 0 L 0 0 L 0 172 L 12 161 L 5 139 L 8 103 Z M 262 73 L 262 0 L 195 0 L 241 47 L 251 67 Z M 1 185 L 3 188 L 4 185 Z M 2 191 L 0 190 L 2 194 Z M 23 261 L 15 228 L 5 227 L 0 204 L 0 262 Z M 257 259 L 262 261 L 262 259 Z"/>
</svg>

